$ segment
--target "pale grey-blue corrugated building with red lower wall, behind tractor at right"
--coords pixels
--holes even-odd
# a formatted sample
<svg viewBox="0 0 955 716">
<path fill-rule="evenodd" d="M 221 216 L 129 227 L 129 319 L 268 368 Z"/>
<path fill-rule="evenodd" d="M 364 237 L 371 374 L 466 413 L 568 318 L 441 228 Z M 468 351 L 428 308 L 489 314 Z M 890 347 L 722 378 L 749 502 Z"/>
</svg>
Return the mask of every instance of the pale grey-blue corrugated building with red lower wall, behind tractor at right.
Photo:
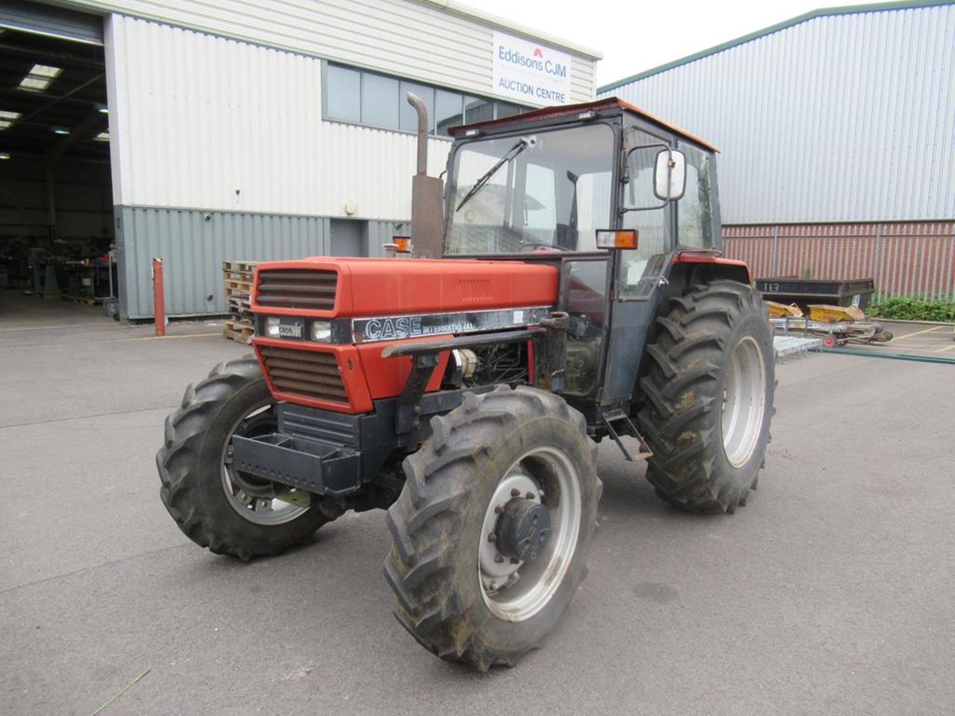
<svg viewBox="0 0 955 716">
<path fill-rule="evenodd" d="M 800 15 L 598 89 L 721 150 L 727 250 L 757 276 L 955 296 L 955 6 Z"/>
</svg>

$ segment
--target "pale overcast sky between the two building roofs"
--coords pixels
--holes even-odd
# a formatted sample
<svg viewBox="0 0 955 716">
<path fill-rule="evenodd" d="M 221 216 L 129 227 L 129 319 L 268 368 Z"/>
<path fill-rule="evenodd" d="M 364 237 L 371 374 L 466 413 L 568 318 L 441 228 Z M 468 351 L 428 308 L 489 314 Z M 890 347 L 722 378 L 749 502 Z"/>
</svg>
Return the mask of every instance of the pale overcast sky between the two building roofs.
<svg viewBox="0 0 955 716">
<path fill-rule="evenodd" d="M 837 0 L 460 0 L 604 53 L 597 85 L 761 30 Z M 863 5 L 853 3 L 846 5 Z"/>
</svg>

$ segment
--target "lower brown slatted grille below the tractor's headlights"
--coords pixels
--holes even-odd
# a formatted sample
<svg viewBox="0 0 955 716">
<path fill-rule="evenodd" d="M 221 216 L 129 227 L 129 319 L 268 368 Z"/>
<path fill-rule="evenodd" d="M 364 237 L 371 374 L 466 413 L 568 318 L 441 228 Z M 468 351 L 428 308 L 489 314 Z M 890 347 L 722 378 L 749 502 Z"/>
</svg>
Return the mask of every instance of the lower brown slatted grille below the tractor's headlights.
<svg viewBox="0 0 955 716">
<path fill-rule="evenodd" d="M 334 353 L 263 346 L 265 370 L 275 390 L 313 400 L 348 403 Z"/>
</svg>

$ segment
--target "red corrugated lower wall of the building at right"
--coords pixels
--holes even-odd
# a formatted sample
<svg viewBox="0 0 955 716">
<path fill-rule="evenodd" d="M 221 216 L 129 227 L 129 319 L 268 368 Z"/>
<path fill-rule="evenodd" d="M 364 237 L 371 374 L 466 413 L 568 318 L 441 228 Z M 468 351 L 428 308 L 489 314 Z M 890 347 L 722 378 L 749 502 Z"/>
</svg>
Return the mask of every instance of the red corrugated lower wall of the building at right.
<svg viewBox="0 0 955 716">
<path fill-rule="evenodd" d="M 754 278 L 873 278 L 879 297 L 955 300 L 955 223 L 724 226 Z"/>
</svg>

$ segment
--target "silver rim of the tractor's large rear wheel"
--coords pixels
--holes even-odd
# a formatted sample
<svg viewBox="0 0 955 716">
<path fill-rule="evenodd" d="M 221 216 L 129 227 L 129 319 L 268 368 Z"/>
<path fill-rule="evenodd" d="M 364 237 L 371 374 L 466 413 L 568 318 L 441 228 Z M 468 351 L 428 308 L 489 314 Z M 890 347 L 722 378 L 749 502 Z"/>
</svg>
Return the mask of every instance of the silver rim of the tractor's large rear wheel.
<svg viewBox="0 0 955 716">
<path fill-rule="evenodd" d="M 735 467 L 753 457 L 766 411 L 762 347 L 746 336 L 733 348 L 723 385 L 723 451 Z"/>
</svg>

